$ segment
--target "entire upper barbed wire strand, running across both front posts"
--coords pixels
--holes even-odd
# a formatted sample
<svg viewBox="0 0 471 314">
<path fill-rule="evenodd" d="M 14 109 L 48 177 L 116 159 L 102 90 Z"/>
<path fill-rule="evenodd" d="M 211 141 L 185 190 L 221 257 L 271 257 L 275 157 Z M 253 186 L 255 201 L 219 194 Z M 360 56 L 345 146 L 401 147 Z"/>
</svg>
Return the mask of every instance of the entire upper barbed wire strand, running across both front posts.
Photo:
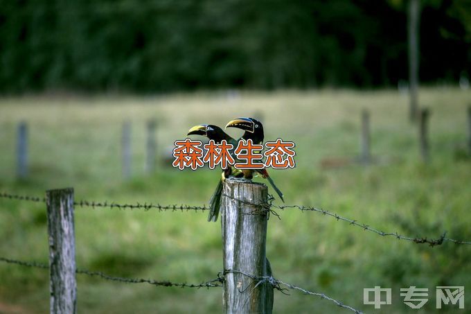
<svg viewBox="0 0 471 314">
<path fill-rule="evenodd" d="M 226 195 L 227 196 L 227 195 Z M 0 198 L 8 198 L 10 200 L 27 200 L 27 201 L 32 201 L 32 202 L 46 202 L 44 198 L 38 198 L 34 196 L 28 196 L 28 195 L 16 195 L 16 194 L 10 194 L 10 193 L 0 193 Z M 236 200 L 236 199 L 233 199 Z M 254 211 L 254 214 L 263 212 L 265 213 L 266 211 L 269 211 L 269 213 L 274 214 L 279 218 L 279 214 L 276 213 L 273 209 L 280 209 L 284 211 L 285 209 L 299 209 L 300 211 L 315 211 L 318 213 L 322 213 L 325 216 L 330 216 L 332 218 L 335 218 L 337 220 L 343 220 L 350 225 L 354 225 L 356 227 L 360 227 L 368 232 L 373 232 L 375 234 L 378 234 L 380 236 L 393 236 L 394 238 L 397 238 L 398 240 L 405 240 L 405 241 L 411 241 L 417 244 L 428 244 L 432 247 L 436 245 L 442 245 L 445 242 L 450 242 L 450 243 L 455 243 L 455 244 L 463 244 L 463 245 L 471 245 L 471 241 L 462 241 L 462 240 L 456 240 L 454 238 L 447 238 L 446 237 L 446 232 L 443 232 L 441 236 L 438 238 L 427 238 L 427 237 L 411 237 L 411 236 L 403 236 L 399 234 L 398 232 L 383 232 L 379 229 L 375 229 L 373 227 L 370 227 L 370 225 L 366 225 L 365 223 L 359 223 L 358 220 L 355 219 L 350 219 L 346 218 L 343 216 L 337 215 L 337 213 L 332 213 L 331 211 L 327 211 L 325 209 L 319 209 L 317 207 L 308 207 L 308 206 L 303 206 L 303 205 L 274 205 L 272 204 L 273 198 L 269 199 L 268 203 L 258 203 L 258 204 L 253 204 L 253 203 L 248 203 L 253 205 L 254 207 L 260 208 L 260 211 Z M 237 200 L 238 202 L 244 202 Z M 245 202 L 247 203 L 247 202 Z M 87 200 L 81 200 L 80 202 L 74 202 L 75 206 L 80 206 L 80 207 L 109 207 L 111 209 L 117 208 L 117 209 L 144 209 L 145 211 L 148 211 L 150 209 L 157 209 L 158 211 L 207 211 L 209 210 L 206 205 L 203 206 L 191 206 L 191 205 L 186 205 L 186 204 L 181 204 L 181 205 L 160 205 L 160 204 L 151 204 L 151 203 L 144 203 L 140 204 L 137 202 L 136 204 L 118 204 L 116 202 L 89 202 Z"/>
</svg>

